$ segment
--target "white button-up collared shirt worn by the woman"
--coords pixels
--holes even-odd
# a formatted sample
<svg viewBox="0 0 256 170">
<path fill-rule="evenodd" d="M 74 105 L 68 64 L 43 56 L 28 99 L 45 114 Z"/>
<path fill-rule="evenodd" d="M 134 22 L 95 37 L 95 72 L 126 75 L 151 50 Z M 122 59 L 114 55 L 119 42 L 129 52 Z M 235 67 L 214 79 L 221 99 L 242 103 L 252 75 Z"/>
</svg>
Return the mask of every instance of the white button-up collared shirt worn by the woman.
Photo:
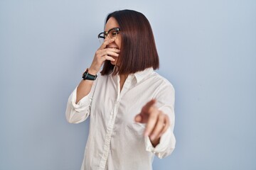
<svg viewBox="0 0 256 170">
<path fill-rule="evenodd" d="M 90 94 L 77 104 L 77 89 L 68 98 L 65 115 L 69 123 L 81 123 L 90 116 L 81 170 L 149 170 L 154 154 L 163 158 L 174 150 L 174 87 L 152 68 L 129 74 L 121 92 L 119 80 L 119 75 L 99 75 Z M 134 122 L 153 98 L 171 122 L 156 147 L 144 137 L 146 125 Z"/>
</svg>

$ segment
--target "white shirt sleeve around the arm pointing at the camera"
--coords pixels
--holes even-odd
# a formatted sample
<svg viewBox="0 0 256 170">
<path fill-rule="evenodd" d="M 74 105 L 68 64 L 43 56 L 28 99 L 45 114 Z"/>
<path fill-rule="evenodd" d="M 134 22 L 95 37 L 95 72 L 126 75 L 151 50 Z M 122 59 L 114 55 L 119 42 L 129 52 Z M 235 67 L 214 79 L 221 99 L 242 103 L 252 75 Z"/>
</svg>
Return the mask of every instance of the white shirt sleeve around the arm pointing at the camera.
<svg viewBox="0 0 256 170">
<path fill-rule="evenodd" d="M 167 157 L 174 151 L 176 139 L 174 136 L 174 87 L 166 86 L 156 96 L 157 107 L 169 116 L 170 127 L 160 138 L 160 142 L 153 147 L 149 137 L 145 137 L 146 151 L 156 154 L 159 158 Z"/>
</svg>

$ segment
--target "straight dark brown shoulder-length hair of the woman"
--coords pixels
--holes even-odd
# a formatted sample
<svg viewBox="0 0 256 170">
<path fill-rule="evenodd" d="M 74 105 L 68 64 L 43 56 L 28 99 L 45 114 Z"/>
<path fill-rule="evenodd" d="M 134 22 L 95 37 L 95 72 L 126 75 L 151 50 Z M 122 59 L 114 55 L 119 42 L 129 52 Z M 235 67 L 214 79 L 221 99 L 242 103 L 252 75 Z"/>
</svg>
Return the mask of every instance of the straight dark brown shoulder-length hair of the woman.
<svg viewBox="0 0 256 170">
<path fill-rule="evenodd" d="M 106 22 L 113 17 L 119 24 L 121 51 L 118 57 L 118 68 L 113 74 L 131 74 L 146 68 L 159 68 L 159 56 L 149 21 L 137 11 L 122 10 L 108 14 Z M 110 74 L 114 65 L 106 60 L 101 74 Z"/>
</svg>

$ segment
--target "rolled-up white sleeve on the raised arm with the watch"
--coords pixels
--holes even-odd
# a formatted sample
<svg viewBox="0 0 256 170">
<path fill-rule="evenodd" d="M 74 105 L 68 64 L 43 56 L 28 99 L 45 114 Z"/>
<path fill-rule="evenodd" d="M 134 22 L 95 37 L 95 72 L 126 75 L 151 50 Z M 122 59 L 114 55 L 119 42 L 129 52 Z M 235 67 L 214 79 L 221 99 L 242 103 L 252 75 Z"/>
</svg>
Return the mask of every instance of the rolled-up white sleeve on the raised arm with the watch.
<svg viewBox="0 0 256 170">
<path fill-rule="evenodd" d="M 75 103 L 77 98 L 77 89 L 75 88 L 72 94 L 68 98 L 67 108 L 65 111 L 65 117 L 69 123 L 81 123 L 90 115 L 90 106 L 92 103 L 93 94 L 95 91 L 95 83 L 92 85 L 92 89 L 87 96 L 81 98 L 78 103 Z"/>
</svg>

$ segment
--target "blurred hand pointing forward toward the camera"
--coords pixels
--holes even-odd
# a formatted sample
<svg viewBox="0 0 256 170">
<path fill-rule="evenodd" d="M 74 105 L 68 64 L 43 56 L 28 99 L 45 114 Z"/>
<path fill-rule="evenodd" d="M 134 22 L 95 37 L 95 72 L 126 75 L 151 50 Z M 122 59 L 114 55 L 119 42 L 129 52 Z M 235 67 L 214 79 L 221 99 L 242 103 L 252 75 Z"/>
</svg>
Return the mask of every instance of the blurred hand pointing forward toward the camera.
<svg viewBox="0 0 256 170">
<path fill-rule="evenodd" d="M 154 105 L 156 100 L 153 99 L 143 106 L 141 113 L 135 116 L 137 123 L 146 123 L 145 136 L 149 136 L 154 147 L 159 144 L 161 135 L 169 128 L 170 121 L 168 115 L 159 111 Z"/>
</svg>

